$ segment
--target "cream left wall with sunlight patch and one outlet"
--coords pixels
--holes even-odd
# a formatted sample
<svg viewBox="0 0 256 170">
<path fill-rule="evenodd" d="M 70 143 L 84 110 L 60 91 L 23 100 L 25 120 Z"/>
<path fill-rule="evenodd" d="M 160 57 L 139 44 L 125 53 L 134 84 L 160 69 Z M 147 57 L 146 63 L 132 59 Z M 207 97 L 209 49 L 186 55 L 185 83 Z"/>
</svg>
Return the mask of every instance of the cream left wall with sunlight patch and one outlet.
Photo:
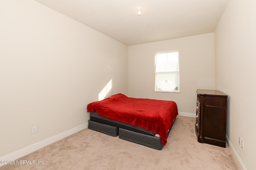
<svg viewBox="0 0 256 170">
<path fill-rule="evenodd" d="M 126 45 L 34 0 L 1 0 L 0 21 L 0 157 L 87 123 L 110 80 L 128 94 Z"/>
</svg>

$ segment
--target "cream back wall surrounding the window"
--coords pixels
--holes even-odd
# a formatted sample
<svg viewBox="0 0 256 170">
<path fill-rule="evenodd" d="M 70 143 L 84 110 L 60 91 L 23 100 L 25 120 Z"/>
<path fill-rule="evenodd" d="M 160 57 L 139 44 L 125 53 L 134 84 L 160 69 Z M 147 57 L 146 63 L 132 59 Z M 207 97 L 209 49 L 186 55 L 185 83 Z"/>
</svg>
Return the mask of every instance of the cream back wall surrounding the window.
<svg viewBox="0 0 256 170">
<path fill-rule="evenodd" d="M 154 53 L 170 50 L 180 51 L 180 93 L 155 92 Z M 214 33 L 129 46 L 128 68 L 130 97 L 172 100 L 195 113 L 196 90 L 215 88 Z"/>
</svg>

